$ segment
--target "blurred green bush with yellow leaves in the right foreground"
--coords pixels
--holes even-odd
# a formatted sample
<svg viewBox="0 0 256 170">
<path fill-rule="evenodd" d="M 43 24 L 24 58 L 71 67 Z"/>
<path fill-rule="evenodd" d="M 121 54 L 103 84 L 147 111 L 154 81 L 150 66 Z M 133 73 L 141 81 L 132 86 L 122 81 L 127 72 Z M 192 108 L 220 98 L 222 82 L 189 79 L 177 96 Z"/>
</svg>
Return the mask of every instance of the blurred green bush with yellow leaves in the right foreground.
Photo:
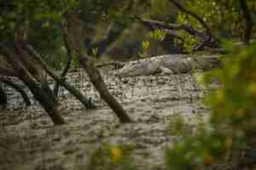
<svg viewBox="0 0 256 170">
<path fill-rule="evenodd" d="M 210 122 L 195 136 L 186 136 L 166 150 L 168 169 L 218 162 L 231 150 L 254 150 L 254 145 L 248 144 L 255 138 L 256 45 L 243 50 L 228 46 L 233 53 L 224 57 L 224 68 L 205 76 L 206 82 L 220 83 L 220 88 L 206 100 L 212 106 Z"/>
</svg>

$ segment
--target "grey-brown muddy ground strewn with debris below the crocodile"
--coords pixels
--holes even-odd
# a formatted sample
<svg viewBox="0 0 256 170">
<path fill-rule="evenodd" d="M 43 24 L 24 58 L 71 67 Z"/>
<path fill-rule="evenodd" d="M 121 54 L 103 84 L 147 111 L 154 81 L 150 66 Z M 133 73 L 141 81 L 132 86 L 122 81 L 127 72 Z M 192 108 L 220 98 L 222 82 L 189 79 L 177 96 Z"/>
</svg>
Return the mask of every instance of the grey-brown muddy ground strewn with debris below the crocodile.
<svg viewBox="0 0 256 170">
<path fill-rule="evenodd" d="M 11 110 L 0 111 L 0 170 L 86 169 L 90 154 L 101 144 L 131 144 L 138 167 L 162 169 L 165 148 L 178 138 L 169 130 L 172 117 L 184 116 L 193 132 L 210 113 L 202 102 L 207 92 L 191 74 L 116 77 L 111 66 L 101 71 L 134 122 L 119 123 L 88 78 L 71 71 L 68 81 L 93 97 L 97 109 L 84 109 L 62 91 L 59 110 L 67 124 L 54 126 L 37 104 L 25 108 L 21 100 L 12 100 Z"/>
</svg>

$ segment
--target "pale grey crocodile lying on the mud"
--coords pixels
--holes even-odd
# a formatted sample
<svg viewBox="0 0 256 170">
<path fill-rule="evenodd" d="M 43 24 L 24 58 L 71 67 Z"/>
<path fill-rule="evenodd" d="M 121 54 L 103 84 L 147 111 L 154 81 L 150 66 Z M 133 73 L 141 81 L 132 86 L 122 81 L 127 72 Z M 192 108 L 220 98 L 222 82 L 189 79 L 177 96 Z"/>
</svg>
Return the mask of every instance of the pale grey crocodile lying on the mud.
<svg viewBox="0 0 256 170">
<path fill-rule="evenodd" d="M 148 59 L 130 61 L 116 75 L 120 77 L 147 76 L 158 73 L 182 74 L 192 70 L 207 71 L 219 66 L 219 56 L 167 54 Z"/>
</svg>

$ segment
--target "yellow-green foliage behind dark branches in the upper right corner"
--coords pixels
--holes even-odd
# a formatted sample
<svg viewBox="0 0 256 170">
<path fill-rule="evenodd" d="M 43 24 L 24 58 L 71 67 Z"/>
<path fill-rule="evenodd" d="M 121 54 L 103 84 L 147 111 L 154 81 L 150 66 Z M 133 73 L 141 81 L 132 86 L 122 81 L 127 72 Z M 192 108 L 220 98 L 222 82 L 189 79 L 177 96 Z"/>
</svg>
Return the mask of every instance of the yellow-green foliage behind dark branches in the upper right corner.
<svg viewBox="0 0 256 170">
<path fill-rule="evenodd" d="M 199 1 L 184 1 L 184 4 L 191 11 L 195 11 L 201 18 L 206 21 L 207 25 L 212 29 L 212 32 L 219 38 L 232 39 L 235 42 L 242 41 L 245 34 L 245 20 L 241 12 L 239 1 L 216 1 L 216 0 L 199 0 Z M 255 16 L 256 3 L 253 0 L 247 1 L 250 13 Z M 255 17 L 254 18 L 254 22 Z M 204 31 L 204 27 L 195 20 L 195 18 L 178 12 L 177 22 L 180 24 L 195 26 L 200 31 Z M 254 28 L 255 32 L 255 28 Z M 189 51 L 191 47 L 199 41 L 198 38 L 189 35 L 187 32 L 181 32 L 185 38 L 185 48 Z M 254 34 L 255 36 L 255 34 Z"/>
</svg>

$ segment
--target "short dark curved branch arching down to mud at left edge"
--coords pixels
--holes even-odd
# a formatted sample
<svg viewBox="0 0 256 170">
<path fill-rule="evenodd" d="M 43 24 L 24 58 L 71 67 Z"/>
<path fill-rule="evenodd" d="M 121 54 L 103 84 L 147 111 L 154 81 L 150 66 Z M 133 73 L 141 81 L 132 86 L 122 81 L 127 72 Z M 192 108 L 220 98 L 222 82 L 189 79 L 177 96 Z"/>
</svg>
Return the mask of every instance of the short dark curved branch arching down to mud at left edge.
<svg viewBox="0 0 256 170">
<path fill-rule="evenodd" d="M 7 84 L 8 86 L 10 86 L 11 88 L 15 88 L 15 90 L 17 92 L 20 93 L 21 97 L 24 99 L 26 106 L 31 105 L 31 101 L 29 99 L 29 97 L 27 96 L 26 92 L 23 90 L 22 87 L 20 87 L 19 84 L 16 84 L 15 82 L 10 81 L 8 78 L 6 77 L 0 77 L 0 82 L 3 82 L 5 84 Z"/>
</svg>

